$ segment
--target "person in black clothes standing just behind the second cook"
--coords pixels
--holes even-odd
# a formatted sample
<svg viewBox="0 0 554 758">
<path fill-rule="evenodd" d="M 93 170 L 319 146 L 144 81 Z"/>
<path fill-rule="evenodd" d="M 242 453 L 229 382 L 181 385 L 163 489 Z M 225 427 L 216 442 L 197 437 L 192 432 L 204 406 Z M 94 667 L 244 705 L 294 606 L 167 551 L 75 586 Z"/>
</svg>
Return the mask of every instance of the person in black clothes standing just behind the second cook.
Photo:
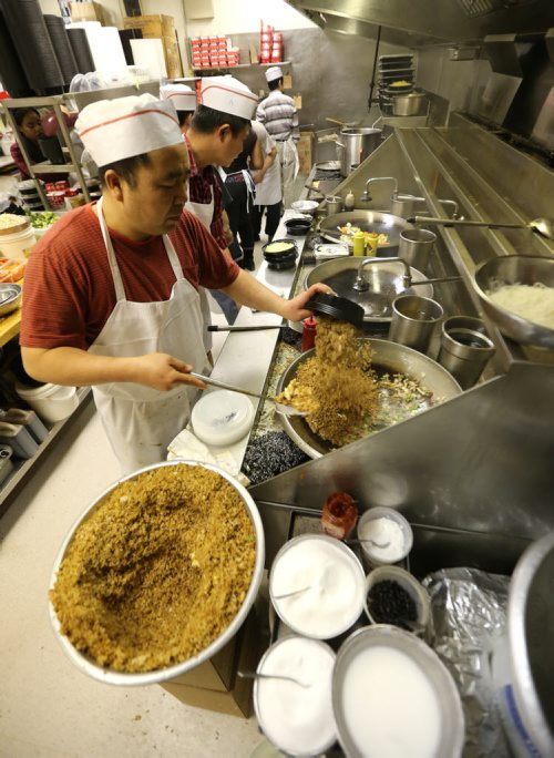
<svg viewBox="0 0 554 758">
<path fill-rule="evenodd" d="M 219 168 L 219 174 L 232 198 L 232 202 L 225 206 L 229 217 L 230 231 L 235 239 L 240 239 L 240 247 L 243 248 L 243 260 L 238 262 L 238 265 L 248 272 L 256 268 L 254 265 L 254 229 L 250 219 L 255 185 L 248 168 L 261 168 L 263 164 L 261 146 L 256 132 L 250 127 L 245 137 L 243 150 L 237 157 L 227 168 Z"/>
</svg>

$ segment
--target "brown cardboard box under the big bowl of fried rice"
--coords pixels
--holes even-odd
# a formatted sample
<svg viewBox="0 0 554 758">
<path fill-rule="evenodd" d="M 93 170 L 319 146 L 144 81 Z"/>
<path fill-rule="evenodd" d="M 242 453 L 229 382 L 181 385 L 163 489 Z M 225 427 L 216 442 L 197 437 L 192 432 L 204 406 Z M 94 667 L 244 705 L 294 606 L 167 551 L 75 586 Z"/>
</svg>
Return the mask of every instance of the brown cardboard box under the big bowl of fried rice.
<svg viewBox="0 0 554 758">
<path fill-rule="evenodd" d="M 248 718 L 254 683 L 236 673 L 255 670 L 267 643 L 253 610 L 238 634 L 213 658 L 161 686 L 186 705 Z"/>
</svg>

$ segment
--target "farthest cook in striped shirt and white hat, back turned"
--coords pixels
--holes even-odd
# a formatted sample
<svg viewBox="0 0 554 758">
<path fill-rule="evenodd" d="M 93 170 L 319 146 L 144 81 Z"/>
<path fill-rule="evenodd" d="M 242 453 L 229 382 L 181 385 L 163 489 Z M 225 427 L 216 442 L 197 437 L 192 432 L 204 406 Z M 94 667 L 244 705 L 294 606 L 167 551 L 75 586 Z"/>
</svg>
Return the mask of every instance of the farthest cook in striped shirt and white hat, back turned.
<svg viewBox="0 0 554 758">
<path fill-rule="evenodd" d="M 300 139 L 298 112 L 295 101 L 284 92 L 283 70 L 271 65 L 266 71 L 269 94 L 256 111 L 256 120 L 264 124 L 269 135 L 277 143 L 281 167 L 281 187 L 289 187 L 295 181 L 300 162 L 296 143 Z"/>
</svg>

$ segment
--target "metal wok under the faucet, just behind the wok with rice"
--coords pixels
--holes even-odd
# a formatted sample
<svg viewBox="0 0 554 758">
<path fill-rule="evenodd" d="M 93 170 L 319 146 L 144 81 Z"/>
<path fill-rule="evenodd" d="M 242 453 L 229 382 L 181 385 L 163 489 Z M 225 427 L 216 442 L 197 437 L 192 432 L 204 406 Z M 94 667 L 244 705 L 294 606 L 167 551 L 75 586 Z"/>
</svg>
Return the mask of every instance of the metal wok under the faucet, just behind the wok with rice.
<svg viewBox="0 0 554 758">
<path fill-rule="evenodd" d="M 398 295 L 419 295 L 433 297 L 432 285 L 418 285 L 404 288 L 402 276 L 404 267 L 400 262 L 379 258 L 378 262 L 363 269 L 369 281 L 369 289 L 358 291 L 353 288 L 360 263 L 369 258 L 353 256 L 326 260 L 316 266 L 306 277 L 306 288 L 317 281 L 329 285 L 337 295 L 357 303 L 363 308 L 363 320 L 368 324 L 387 324 L 392 319 L 392 300 Z M 417 268 L 410 267 L 413 281 L 424 281 L 425 276 Z"/>
</svg>

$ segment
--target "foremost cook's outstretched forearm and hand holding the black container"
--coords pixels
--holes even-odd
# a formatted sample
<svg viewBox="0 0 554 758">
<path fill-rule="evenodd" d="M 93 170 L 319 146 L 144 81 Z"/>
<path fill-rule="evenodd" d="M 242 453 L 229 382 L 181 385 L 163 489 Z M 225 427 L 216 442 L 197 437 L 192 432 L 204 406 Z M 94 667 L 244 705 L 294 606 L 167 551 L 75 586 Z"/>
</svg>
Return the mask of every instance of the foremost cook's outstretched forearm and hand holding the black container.
<svg viewBox="0 0 554 758">
<path fill-rule="evenodd" d="M 301 321 L 311 316 L 311 311 L 306 309 L 306 303 L 316 293 L 330 293 L 330 287 L 321 283 L 311 285 L 309 289 L 297 295 L 291 300 L 286 300 L 276 295 L 271 289 L 265 287 L 253 276 L 240 270 L 237 278 L 223 291 L 229 295 L 236 303 L 255 308 L 256 310 L 267 310 L 287 318 L 290 321 Z"/>
</svg>

